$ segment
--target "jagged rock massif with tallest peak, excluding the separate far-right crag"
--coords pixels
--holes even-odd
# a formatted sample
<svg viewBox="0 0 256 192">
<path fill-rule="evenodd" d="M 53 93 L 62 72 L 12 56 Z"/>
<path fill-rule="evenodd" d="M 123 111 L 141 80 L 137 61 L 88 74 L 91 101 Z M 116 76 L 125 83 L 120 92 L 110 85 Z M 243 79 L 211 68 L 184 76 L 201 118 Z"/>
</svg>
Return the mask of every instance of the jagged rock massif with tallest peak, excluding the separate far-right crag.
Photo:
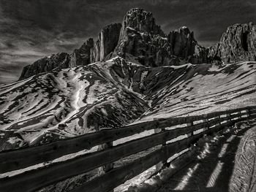
<svg viewBox="0 0 256 192">
<path fill-rule="evenodd" d="M 187 62 L 201 64 L 206 63 L 207 53 L 205 47 L 197 44 L 189 28 L 181 27 L 164 34 L 151 12 L 134 8 L 124 15 L 122 24 L 111 23 L 102 28 L 95 42 L 89 38 L 70 55 L 61 53 L 67 55 L 68 64 L 60 67 L 84 66 L 116 56 L 144 66 L 170 66 Z M 53 69 L 51 66 L 56 67 L 49 66 L 49 63 L 55 63 L 55 58 L 56 55 L 52 55 L 24 67 L 20 80 L 40 72 L 50 72 Z"/>
</svg>

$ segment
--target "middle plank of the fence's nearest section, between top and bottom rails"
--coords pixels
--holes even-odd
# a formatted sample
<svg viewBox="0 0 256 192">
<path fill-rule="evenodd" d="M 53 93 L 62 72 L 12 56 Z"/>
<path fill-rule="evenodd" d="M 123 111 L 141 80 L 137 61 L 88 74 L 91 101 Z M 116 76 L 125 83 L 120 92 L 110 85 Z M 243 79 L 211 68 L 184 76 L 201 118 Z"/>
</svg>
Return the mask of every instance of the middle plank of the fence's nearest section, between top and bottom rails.
<svg viewBox="0 0 256 192">
<path fill-rule="evenodd" d="M 0 180 L 0 191 L 34 191 L 69 177 L 89 172 L 99 166 L 110 164 L 127 155 L 160 145 L 163 141 L 174 137 L 171 131 L 164 131 L 117 145 L 111 149 L 81 155 L 78 158 L 45 166 L 42 169 L 3 178 Z"/>
</svg>

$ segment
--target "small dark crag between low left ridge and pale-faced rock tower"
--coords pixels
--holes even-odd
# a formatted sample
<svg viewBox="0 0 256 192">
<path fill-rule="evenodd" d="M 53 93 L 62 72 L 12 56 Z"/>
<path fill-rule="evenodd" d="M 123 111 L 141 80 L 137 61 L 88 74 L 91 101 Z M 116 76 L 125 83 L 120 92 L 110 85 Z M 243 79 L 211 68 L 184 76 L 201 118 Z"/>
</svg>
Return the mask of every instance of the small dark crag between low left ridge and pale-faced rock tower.
<svg viewBox="0 0 256 192">
<path fill-rule="evenodd" d="M 89 38 L 79 49 L 75 49 L 70 55 L 69 66 L 85 66 L 91 63 L 91 48 L 94 47 L 94 39 Z"/>
</svg>

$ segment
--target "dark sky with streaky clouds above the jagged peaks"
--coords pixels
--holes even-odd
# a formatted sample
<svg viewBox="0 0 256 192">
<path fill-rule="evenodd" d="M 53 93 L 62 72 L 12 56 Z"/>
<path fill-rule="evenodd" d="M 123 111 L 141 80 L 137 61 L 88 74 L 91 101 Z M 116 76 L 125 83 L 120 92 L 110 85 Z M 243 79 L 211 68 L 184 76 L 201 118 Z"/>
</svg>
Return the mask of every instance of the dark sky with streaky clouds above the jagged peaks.
<svg viewBox="0 0 256 192">
<path fill-rule="evenodd" d="M 0 84 L 18 80 L 38 58 L 71 53 L 132 7 L 153 12 L 166 33 L 188 26 L 206 47 L 227 26 L 256 23 L 255 0 L 0 0 Z"/>
</svg>

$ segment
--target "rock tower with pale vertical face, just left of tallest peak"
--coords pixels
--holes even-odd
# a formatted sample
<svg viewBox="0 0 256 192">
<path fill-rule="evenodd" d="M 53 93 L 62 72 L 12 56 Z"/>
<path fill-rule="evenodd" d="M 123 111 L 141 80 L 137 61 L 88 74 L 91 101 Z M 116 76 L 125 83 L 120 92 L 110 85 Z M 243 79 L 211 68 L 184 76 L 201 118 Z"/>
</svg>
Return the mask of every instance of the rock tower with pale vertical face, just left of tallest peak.
<svg viewBox="0 0 256 192">
<path fill-rule="evenodd" d="M 115 49 L 121 29 L 121 23 L 112 23 L 102 28 L 99 37 L 91 49 L 91 63 L 104 61 L 110 58 L 110 53 Z M 108 56 L 109 55 L 109 56 Z"/>
</svg>

